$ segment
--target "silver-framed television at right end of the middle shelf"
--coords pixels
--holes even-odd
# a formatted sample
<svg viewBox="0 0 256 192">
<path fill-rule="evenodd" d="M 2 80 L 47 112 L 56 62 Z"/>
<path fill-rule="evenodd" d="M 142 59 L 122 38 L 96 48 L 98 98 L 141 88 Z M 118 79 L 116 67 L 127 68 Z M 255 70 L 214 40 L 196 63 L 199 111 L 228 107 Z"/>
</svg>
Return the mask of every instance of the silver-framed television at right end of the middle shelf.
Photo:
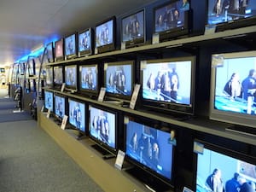
<svg viewBox="0 0 256 192">
<path fill-rule="evenodd" d="M 255 67 L 256 51 L 212 55 L 210 119 L 256 128 Z"/>
</svg>

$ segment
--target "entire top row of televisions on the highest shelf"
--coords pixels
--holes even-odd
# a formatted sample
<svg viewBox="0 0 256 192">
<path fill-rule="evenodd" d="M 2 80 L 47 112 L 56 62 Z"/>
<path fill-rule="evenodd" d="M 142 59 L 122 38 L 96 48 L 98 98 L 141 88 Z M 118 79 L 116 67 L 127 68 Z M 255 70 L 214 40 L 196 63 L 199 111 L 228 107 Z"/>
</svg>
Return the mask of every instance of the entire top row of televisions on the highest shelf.
<svg viewBox="0 0 256 192">
<path fill-rule="evenodd" d="M 255 25 L 255 1 L 208 0 L 207 24 L 217 25 L 218 31 Z M 201 14 L 201 10 L 194 11 Z M 174 0 L 154 8 L 154 34 L 159 41 L 183 37 L 192 32 L 192 10 L 188 0 Z M 145 9 L 126 15 L 120 21 L 120 42 L 125 48 L 146 44 Z M 116 49 L 117 21 L 113 16 L 92 27 L 61 38 L 47 45 L 49 62 L 103 53 Z M 122 48 L 122 45 L 121 45 Z"/>
</svg>

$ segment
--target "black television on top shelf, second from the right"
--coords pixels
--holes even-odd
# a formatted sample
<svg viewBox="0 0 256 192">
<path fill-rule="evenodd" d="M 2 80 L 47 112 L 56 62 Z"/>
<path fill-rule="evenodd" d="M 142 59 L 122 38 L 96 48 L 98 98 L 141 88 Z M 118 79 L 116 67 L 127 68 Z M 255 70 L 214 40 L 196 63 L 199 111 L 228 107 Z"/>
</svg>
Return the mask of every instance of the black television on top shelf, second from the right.
<svg viewBox="0 0 256 192">
<path fill-rule="evenodd" d="M 160 42 L 188 35 L 191 31 L 192 14 L 189 0 L 173 0 L 154 8 L 154 33 Z"/>
</svg>

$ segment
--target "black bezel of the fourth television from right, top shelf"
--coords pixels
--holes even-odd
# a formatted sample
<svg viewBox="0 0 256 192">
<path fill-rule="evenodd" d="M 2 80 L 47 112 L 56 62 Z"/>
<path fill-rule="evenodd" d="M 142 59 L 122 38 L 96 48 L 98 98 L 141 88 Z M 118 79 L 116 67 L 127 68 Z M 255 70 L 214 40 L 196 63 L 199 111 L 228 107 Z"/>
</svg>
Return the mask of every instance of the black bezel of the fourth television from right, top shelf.
<svg viewBox="0 0 256 192">
<path fill-rule="evenodd" d="M 96 44 L 97 27 L 102 26 L 111 20 L 113 20 L 113 42 L 110 44 L 97 45 Z M 116 23 L 115 16 L 112 16 L 112 17 L 108 18 L 107 20 L 102 20 L 101 22 L 96 24 L 96 27 L 95 27 L 95 49 L 97 50 L 98 54 L 105 53 L 105 52 L 112 51 L 112 50 L 116 49 L 116 40 L 117 40 L 116 39 L 116 31 L 117 31 L 116 27 L 117 27 L 117 23 Z"/>
</svg>

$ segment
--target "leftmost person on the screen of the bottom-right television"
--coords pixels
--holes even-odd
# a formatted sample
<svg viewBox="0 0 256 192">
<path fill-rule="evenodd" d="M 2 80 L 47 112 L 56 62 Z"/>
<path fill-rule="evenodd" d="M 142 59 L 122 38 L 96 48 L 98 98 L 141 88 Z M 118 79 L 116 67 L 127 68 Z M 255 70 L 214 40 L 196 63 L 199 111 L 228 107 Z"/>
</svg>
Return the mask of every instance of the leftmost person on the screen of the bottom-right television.
<svg viewBox="0 0 256 192">
<path fill-rule="evenodd" d="M 206 186 L 211 192 L 224 192 L 224 183 L 218 168 L 215 168 L 212 174 L 207 177 Z"/>
</svg>

